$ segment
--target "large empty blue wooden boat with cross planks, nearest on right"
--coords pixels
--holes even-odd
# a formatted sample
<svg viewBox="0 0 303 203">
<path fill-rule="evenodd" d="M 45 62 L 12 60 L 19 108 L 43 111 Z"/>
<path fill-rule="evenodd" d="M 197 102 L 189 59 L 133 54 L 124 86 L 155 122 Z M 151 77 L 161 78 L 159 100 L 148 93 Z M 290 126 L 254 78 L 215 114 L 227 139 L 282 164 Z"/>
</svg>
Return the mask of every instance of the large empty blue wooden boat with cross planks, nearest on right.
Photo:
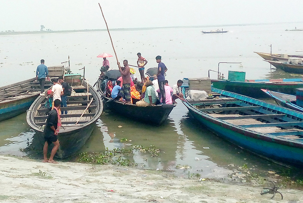
<svg viewBox="0 0 303 203">
<path fill-rule="evenodd" d="M 247 96 L 212 88 L 220 97 L 183 104 L 204 126 L 261 157 L 303 166 L 303 114 Z"/>
</svg>

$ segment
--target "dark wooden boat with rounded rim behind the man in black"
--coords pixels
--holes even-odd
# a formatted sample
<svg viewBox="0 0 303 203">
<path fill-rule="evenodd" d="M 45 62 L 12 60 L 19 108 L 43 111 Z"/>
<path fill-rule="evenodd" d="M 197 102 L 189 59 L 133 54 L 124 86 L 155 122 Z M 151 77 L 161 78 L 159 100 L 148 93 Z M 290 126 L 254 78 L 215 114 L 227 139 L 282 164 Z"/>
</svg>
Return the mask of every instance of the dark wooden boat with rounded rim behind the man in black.
<svg viewBox="0 0 303 203">
<path fill-rule="evenodd" d="M 67 98 L 67 107 L 61 108 L 61 111 L 67 110 L 68 113 L 61 115 L 62 126 L 58 134 L 60 147 L 56 153 L 56 157 L 60 159 L 78 152 L 90 137 L 103 110 L 101 96 L 86 81 L 83 81 L 80 86 L 72 86 L 72 89 L 72 95 Z M 46 101 L 46 95 L 39 96 L 29 107 L 26 115 L 27 123 L 36 132 L 33 146 L 40 149 L 44 145 L 43 129 L 49 112 L 45 107 Z M 89 105 L 90 101 L 92 102 Z M 84 114 L 81 117 L 82 113 Z M 76 124 L 77 121 L 79 122 Z M 51 148 L 49 147 L 50 150 Z"/>
</svg>

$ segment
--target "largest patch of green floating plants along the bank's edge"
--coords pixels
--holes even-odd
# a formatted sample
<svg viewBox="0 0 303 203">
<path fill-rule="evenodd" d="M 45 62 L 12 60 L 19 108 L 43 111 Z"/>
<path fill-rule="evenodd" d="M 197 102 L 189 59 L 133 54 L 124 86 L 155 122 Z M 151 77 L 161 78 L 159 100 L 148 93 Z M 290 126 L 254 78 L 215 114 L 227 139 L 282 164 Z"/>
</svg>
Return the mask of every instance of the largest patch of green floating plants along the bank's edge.
<svg viewBox="0 0 303 203">
<path fill-rule="evenodd" d="M 113 150 L 109 150 L 106 148 L 106 150 L 103 152 L 96 152 L 92 154 L 83 152 L 80 154 L 78 162 L 102 165 L 113 164 L 117 166 L 137 166 L 138 164 L 136 164 L 134 161 L 130 161 L 129 159 L 125 158 L 132 154 L 132 149 L 114 148 Z"/>
</svg>

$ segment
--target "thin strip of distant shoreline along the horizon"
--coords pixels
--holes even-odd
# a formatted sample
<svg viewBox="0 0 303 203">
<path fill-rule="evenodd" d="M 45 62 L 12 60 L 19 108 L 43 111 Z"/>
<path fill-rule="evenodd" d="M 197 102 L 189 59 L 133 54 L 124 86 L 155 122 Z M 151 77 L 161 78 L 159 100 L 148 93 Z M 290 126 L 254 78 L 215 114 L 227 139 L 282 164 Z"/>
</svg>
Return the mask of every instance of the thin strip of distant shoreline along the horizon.
<svg viewBox="0 0 303 203">
<path fill-rule="evenodd" d="M 284 23 L 302 23 L 302 22 L 284 22 Z M 151 29 L 170 29 L 170 28 L 206 28 L 206 27 L 230 27 L 230 26 L 249 26 L 249 25 L 270 25 L 283 23 L 250 23 L 250 24 L 227 24 L 227 25 L 195 25 L 195 26 L 170 26 L 170 27 L 150 27 L 150 28 L 114 28 L 110 31 L 137 31 Z M 103 32 L 107 29 L 82 29 L 82 30 L 54 30 L 54 31 L 9 31 L 0 32 L 0 35 L 21 35 L 21 34 L 50 34 L 50 33 L 78 33 L 78 32 Z"/>
</svg>

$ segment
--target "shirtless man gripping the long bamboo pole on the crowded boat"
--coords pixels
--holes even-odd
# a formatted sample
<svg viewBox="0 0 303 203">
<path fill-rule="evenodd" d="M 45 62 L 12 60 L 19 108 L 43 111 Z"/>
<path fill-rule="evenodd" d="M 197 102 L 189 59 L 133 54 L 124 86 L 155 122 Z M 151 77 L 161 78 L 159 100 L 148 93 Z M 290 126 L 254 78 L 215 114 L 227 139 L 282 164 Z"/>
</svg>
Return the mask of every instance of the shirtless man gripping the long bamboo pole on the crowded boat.
<svg viewBox="0 0 303 203">
<path fill-rule="evenodd" d="M 128 66 L 128 61 L 123 61 L 124 67 L 119 66 L 119 70 L 122 76 L 122 88 L 120 94 L 123 96 L 126 102 L 130 103 L 130 67 Z"/>
</svg>

